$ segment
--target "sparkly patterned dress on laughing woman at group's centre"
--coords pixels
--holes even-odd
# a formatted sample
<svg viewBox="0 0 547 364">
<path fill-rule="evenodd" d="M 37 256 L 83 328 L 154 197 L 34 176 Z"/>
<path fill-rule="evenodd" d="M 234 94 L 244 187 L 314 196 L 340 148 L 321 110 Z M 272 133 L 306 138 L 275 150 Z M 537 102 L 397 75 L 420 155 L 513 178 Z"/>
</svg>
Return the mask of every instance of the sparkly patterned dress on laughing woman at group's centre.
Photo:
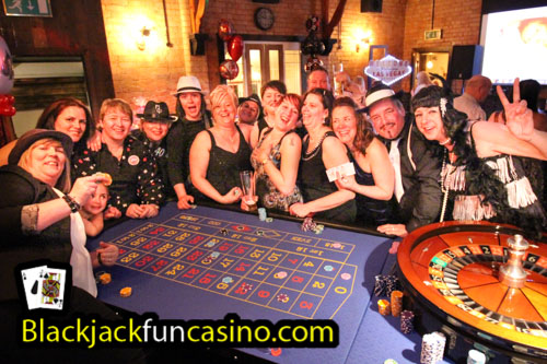
<svg viewBox="0 0 547 364">
<path fill-rule="evenodd" d="M 264 133 L 263 139 L 258 142 L 256 148 L 260 148 L 261 143 L 266 136 L 271 131 L 269 129 Z M 271 163 L 276 166 L 276 168 L 280 169 L 281 167 L 281 142 L 284 137 L 294 131 L 288 131 L 281 137 L 279 142 L 271 149 L 269 158 Z M 260 164 L 260 161 L 256 161 L 255 158 L 251 160 L 253 167 L 255 168 L 255 180 L 256 180 L 256 195 L 260 198 L 260 203 L 266 209 L 276 209 L 280 211 L 288 212 L 291 204 L 296 202 L 303 202 L 302 193 L 300 192 L 299 187 L 295 185 L 294 189 L 289 195 L 281 193 L 274 183 L 270 180 L 266 171 L 264 171 L 264 166 Z"/>
</svg>

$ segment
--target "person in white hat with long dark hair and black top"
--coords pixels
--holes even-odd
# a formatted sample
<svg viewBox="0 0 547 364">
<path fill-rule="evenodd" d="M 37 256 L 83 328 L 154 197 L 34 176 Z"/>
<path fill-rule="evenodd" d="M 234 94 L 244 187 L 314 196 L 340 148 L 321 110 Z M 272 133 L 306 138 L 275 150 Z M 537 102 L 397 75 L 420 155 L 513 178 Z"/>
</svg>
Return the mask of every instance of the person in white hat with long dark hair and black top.
<svg viewBox="0 0 547 364">
<path fill-rule="evenodd" d="M 176 91 L 176 113 L 178 121 L 173 124 L 167 134 L 167 171 L 170 183 L 175 190 L 178 209 L 189 209 L 194 197 L 186 192 L 188 184 L 190 146 L 196 136 L 212 127 L 211 113 L 206 108 L 203 91 L 194 75 L 178 79 Z"/>
</svg>

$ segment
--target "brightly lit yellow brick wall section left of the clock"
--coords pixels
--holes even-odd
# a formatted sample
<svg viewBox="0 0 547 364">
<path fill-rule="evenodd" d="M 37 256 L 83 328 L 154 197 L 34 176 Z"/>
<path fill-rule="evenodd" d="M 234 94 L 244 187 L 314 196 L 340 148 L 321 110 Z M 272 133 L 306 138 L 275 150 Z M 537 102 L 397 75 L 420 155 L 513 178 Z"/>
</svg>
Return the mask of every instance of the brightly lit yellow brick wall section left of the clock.
<svg viewBox="0 0 547 364">
<path fill-rule="evenodd" d="M 175 110 L 176 89 L 181 75 L 195 74 L 202 79 L 207 73 L 205 57 L 191 57 L 191 33 L 187 0 L 167 0 L 167 20 L 173 47 L 167 47 L 162 1 L 102 0 L 108 55 L 116 97 L 132 104 L 133 97 L 165 101 Z M 138 30 L 144 24 L 152 27 L 151 38 L 144 50 L 136 45 Z M 155 34 L 154 34 L 155 33 Z M 205 84 L 203 86 L 207 86 Z"/>
</svg>

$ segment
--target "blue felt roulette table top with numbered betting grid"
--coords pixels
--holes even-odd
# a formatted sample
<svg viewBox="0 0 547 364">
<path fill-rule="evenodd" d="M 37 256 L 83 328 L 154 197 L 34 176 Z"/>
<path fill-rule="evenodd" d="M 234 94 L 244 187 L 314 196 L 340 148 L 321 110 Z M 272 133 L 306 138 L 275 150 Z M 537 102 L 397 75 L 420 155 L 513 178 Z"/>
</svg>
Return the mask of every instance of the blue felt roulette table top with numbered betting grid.
<svg viewBox="0 0 547 364">
<path fill-rule="evenodd" d="M 255 214 L 198 207 L 162 208 L 150 220 L 131 220 L 88 243 L 119 246 L 112 283 L 98 298 L 160 319 L 334 319 L 335 349 L 242 349 L 280 363 L 382 363 L 392 357 L 419 362 L 420 337 L 404 336 L 396 318 L 377 313 L 374 277 L 395 261 L 392 240 L 349 230 L 302 232 L 299 222 L 261 222 Z M 225 231 L 224 231 L 225 230 Z M 130 297 L 119 291 L 132 287 Z M 374 297 L 375 298 L 375 297 Z M 392 322 L 393 321 L 393 322 Z"/>
</svg>

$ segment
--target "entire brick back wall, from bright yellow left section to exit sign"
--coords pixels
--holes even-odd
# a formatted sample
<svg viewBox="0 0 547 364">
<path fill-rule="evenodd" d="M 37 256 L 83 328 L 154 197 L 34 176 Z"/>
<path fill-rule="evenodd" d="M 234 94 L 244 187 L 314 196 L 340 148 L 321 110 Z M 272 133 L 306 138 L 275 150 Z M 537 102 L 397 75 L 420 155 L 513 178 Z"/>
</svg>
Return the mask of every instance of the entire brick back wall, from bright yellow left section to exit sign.
<svg viewBox="0 0 547 364">
<path fill-rule="evenodd" d="M 209 1 L 201 20 L 200 33 L 207 34 L 206 56 L 190 56 L 191 35 L 188 0 L 167 0 L 172 48 L 165 46 L 165 25 L 162 1 L 102 0 L 108 42 L 108 54 L 117 97 L 131 101 L 136 96 L 166 101 L 174 109 L 178 77 L 194 74 L 206 91 L 220 83 L 217 31 L 219 21 L 225 19 L 235 34 L 270 36 L 306 36 L 305 21 L 315 14 L 322 16 L 321 0 L 281 0 L 277 4 L 260 4 L 251 0 Z M 329 1 L 329 16 L 338 4 Z M 363 75 L 369 61 L 369 49 L 361 45 L 356 51 L 359 32 L 370 32 L 372 44 L 387 45 L 388 52 L 399 59 L 410 60 L 414 48 L 446 47 L 476 44 L 479 38 L 481 0 L 437 0 L 434 27 L 443 30 L 443 39 L 423 40 L 423 31 L 431 27 L 431 1 L 384 0 L 382 13 L 361 13 L 360 0 L 348 0 L 341 24 L 335 27 L 331 38 L 338 39 L 329 57 L 322 57 L 327 69 L 344 63 L 351 75 Z M 254 12 L 259 7 L 270 8 L 276 23 L 269 31 L 254 24 Z M 129 33 L 138 30 L 138 19 L 146 16 L 154 25 L 159 37 L 154 49 L 138 50 Z M 131 31 L 132 30 L 132 31 Z M 120 36 L 120 34 L 123 36 Z M 409 78 L 395 89 L 409 90 Z"/>
</svg>

